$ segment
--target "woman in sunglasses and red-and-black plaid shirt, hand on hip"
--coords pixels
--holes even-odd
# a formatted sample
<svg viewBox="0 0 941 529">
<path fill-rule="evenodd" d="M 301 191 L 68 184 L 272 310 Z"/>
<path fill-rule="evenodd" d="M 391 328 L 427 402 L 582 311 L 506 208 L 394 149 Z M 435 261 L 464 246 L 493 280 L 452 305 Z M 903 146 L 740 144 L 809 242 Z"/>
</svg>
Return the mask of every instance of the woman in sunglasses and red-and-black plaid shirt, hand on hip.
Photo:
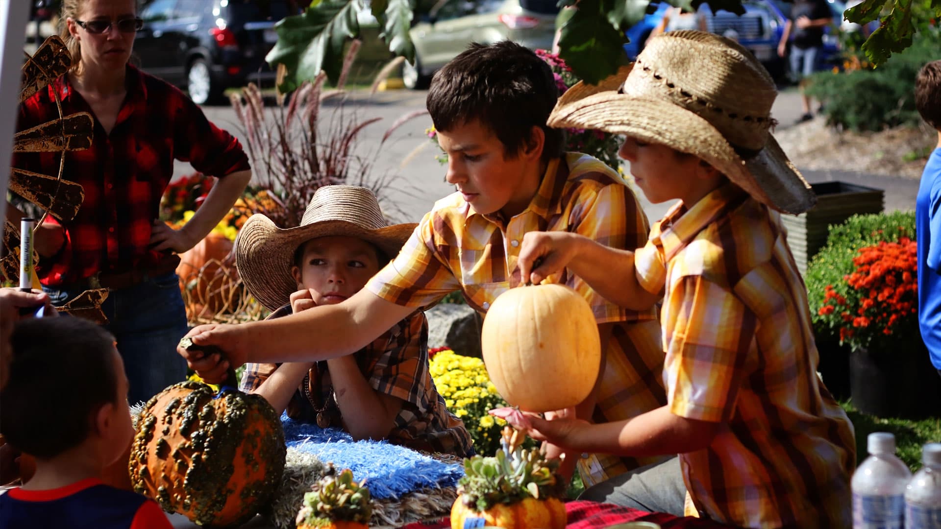
<svg viewBox="0 0 941 529">
<path fill-rule="evenodd" d="M 186 332 L 175 253 L 193 248 L 229 212 L 251 172 L 238 140 L 215 127 L 183 92 L 128 64 L 136 31 L 135 0 L 64 0 L 61 36 L 72 69 L 20 109 L 19 130 L 89 112 L 94 136 L 86 151 L 65 152 L 65 178 L 85 200 L 67 222 L 47 217 L 36 233 L 37 273 L 61 305 L 89 288 L 111 290 L 107 329 L 118 339 L 132 402 L 185 376 L 174 348 Z M 219 179 L 180 230 L 157 220 L 173 160 Z M 13 166 L 58 171 L 57 152 L 17 153 Z M 8 219 L 23 214 L 8 204 Z"/>
</svg>

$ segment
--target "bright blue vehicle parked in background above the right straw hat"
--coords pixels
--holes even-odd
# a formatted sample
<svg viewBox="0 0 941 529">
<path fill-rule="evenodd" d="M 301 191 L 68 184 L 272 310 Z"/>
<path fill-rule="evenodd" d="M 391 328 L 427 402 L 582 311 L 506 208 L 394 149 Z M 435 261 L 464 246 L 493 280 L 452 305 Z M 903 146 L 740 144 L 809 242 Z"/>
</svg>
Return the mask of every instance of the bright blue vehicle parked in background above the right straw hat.
<svg viewBox="0 0 941 529">
<path fill-rule="evenodd" d="M 833 11 L 834 23 L 839 24 L 843 20 L 845 4 L 840 0 L 827 0 L 827 3 Z M 781 41 L 784 24 L 788 21 L 790 4 L 780 0 L 744 0 L 742 6 L 745 8 L 745 14 L 742 16 L 723 10 L 713 13 L 705 3 L 699 7 L 699 13 L 706 17 L 711 33 L 723 35 L 733 30 L 742 46 L 755 54 L 775 79 L 783 78 L 788 72 L 788 63 L 777 56 L 777 44 Z M 660 2 L 653 13 L 646 15 L 641 22 L 634 24 L 627 31 L 630 42 L 624 45 L 624 50 L 630 60 L 644 49 L 644 42 L 650 32 L 661 23 L 669 8 L 668 4 Z M 823 37 L 820 68 L 829 69 L 837 65 L 838 57 L 835 28 L 827 27 Z"/>
</svg>

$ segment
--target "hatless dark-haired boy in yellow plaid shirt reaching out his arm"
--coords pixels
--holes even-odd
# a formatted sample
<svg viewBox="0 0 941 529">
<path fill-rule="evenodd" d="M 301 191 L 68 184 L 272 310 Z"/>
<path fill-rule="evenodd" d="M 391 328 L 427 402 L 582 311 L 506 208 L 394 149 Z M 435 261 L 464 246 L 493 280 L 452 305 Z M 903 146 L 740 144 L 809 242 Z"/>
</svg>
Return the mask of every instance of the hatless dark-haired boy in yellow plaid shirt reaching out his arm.
<svg viewBox="0 0 941 529">
<path fill-rule="evenodd" d="M 470 307 L 486 313 L 502 292 L 525 283 L 517 258 L 526 232 L 578 232 L 616 248 L 643 246 L 649 226 L 630 188 L 597 159 L 562 152 L 562 131 L 546 125 L 557 99 L 549 66 L 532 50 L 509 41 L 472 44 L 435 75 L 427 100 L 448 154 L 445 178 L 457 192 L 423 217 L 398 257 L 339 305 L 271 322 L 199 327 L 190 336 L 197 344 L 222 347 L 235 365 L 257 358 L 331 358 L 351 353 L 450 292 L 461 291 Z M 568 271 L 549 281 L 585 297 L 605 344 L 604 371 L 578 416 L 616 421 L 662 406 L 656 313 L 618 307 Z M 318 340 L 309 334 L 318 328 L 337 330 Z M 215 358 L 180 353 L 201 377 L 224 375 L 225 364 Z M 566 457 L 565 470 L 573 472 L 578 462 L 589 484 L 660 460 L 581 456 Z"/>
</svg>

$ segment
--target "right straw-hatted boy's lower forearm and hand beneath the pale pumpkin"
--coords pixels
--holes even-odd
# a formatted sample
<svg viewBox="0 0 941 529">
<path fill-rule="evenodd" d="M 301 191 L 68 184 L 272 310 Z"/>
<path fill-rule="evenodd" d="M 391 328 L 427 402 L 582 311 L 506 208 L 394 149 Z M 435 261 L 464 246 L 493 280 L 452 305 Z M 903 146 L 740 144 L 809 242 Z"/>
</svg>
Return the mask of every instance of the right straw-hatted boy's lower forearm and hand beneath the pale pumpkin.
<svg viewBox="0 0 941 529">
<path fill-rule="evenodd" d="M 597 452 L 615 456 L 645 457 L 684 454 L 706 448 L 721 423 L 710 423 L 675 415 L 666 406 L 652 409 L 627 421 L 592 425 L 581 419 L 547 421 L 527 416 L 528 429 L 537 441 L 548 441 L 569 451 Z M 528 427 L 528 428 L 527 428 Z"/>
</svg>

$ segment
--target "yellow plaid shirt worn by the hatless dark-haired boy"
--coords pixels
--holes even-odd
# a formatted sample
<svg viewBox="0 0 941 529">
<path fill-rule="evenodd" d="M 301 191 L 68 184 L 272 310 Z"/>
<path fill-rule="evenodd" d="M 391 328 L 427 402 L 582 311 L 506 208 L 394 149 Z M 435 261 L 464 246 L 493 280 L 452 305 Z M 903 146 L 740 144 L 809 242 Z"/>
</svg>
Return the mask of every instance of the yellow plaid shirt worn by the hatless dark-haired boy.
<svg viewBox="0 0 941 529">
<path fill-rule="evenodd" d="M 646 216 L 619 175 L 577 152 L 550 162 L 533 201 L 510 219 L 476 213 L 459 193 L 439 200 L 405 247 L 366 288 L 399 305 L 435 304 L 461 290 L 468 304 L 486 313 L 496 297 L 519 286 L 517 259 L 523 234 L 577 232 L 614 248 L 646 243 Z M 596 422 L 629 419 L 666 403 L 663 351 L 655 311 L 637 313 L 610 303 L 580 278 L 564 271 L 549 278 L 575 289 L 598 324 L 615 323 L 598 393 Z M 458 351 L 459 352 L 459 351 Z M 585 455 L 579 470 L 586 485 L 661 460 Z"/>
</svg>

